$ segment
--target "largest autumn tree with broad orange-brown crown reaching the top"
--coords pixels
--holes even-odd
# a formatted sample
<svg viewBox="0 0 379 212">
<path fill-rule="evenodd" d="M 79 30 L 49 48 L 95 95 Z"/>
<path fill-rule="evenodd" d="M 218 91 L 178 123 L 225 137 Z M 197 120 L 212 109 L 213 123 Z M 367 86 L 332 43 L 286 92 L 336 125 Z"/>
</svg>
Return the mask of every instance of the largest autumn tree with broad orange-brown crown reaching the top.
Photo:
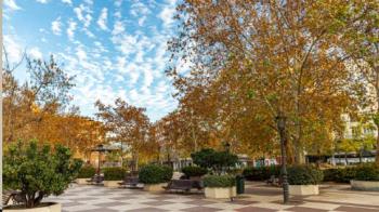
<svg viewBox="0 0 379 212">
<path fill-rule="evenodd" d="M 303 163 L 304 133 L 313 133 L 315 122 L 339 130 L 340 124 L 332 123 L 341 122 L 340 115 L 353 101 L 347 90 L 347 57 L 336 44 L 342 27 L 335 18 L 340 4 L 343 1 L 184 1 L 178 12 L 181 31 L 170 50 L 173 59 L 194 65 L 187 76 L 175 67 L 168 74 L 184 96 L 194 88 L 218 84 L 217 112 L 233 105 L 237 112 L 225 117 L 254 117 L 266 124 L 260 130 L 277 132 L 276 118 L 287 117 L 287 148 L 296 163 Z"/>
</svg>

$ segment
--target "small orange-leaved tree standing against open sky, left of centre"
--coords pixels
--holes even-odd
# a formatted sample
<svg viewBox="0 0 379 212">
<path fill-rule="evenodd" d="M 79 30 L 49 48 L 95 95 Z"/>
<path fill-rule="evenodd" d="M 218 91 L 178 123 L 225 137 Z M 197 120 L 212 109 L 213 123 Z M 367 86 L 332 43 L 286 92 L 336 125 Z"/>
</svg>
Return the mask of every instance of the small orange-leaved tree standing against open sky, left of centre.
<svg viewBox="0 0 379 212">
<path fill-rule="evenodd" d="M 134 165 L 138 169 L 139 151 L 146 144 L 148 130 L 151 127 L 145 108 L 134 107 L 127 104 L 121 98 L 115 101 L 115 106 L 104 105 L 100 101 L 95 103 L 99 109 L 96 116 L 104 122 L 108 132 L 108 140 L 128 144 Z M 121 149 L 122 153 L 122 149 Z M 121 157 L 122 163 L 122 157 Z"/>
</svg>

